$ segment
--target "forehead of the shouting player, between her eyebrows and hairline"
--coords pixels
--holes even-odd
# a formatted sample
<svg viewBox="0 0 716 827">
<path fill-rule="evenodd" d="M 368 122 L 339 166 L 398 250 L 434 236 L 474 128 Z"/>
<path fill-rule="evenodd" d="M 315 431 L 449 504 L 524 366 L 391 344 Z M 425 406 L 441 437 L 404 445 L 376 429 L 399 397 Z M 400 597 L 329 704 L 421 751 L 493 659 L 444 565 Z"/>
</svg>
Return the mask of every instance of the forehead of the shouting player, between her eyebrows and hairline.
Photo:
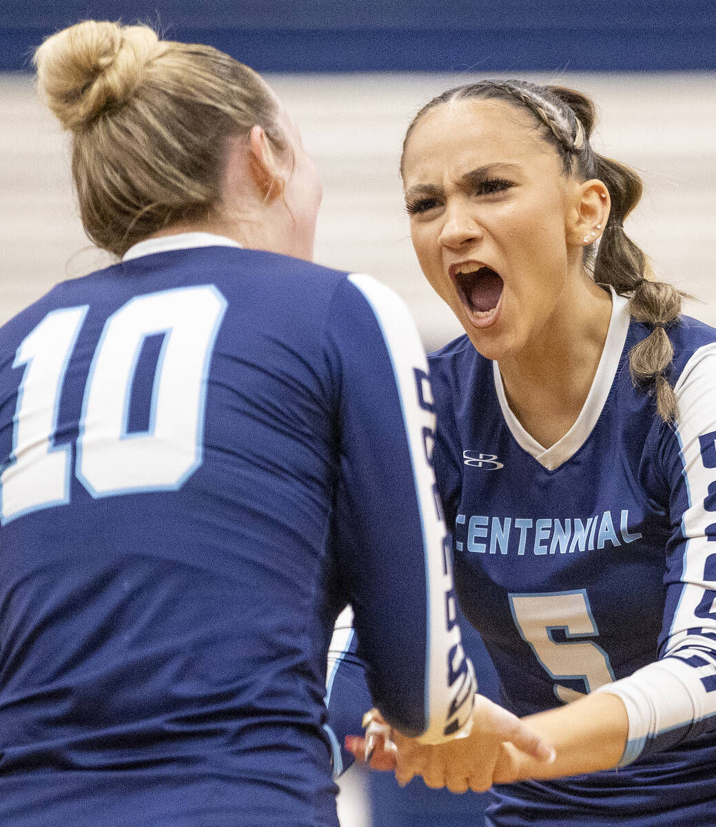
<svg viewBox="0 0 716 827">
<path fill-rule="evenodd" d="M 468 98 L 442 103 L 418 121 L 405 147 L 403 179 L 409 186 L 492 164 L 556 171 L 559 163 L 531 112 L 501 100 Z"/>
</svg>

